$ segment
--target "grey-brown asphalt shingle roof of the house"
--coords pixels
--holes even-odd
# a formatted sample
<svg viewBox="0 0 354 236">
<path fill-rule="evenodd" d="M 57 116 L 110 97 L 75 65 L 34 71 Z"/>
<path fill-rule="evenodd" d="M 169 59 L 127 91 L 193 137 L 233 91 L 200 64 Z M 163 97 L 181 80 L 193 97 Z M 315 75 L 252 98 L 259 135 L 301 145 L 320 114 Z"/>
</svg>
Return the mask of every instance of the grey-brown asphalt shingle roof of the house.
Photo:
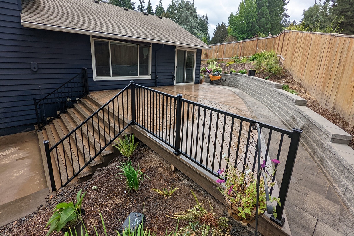
<svg viewBox="0 0 354 236">
<path fill-rule="evenodd" d="M 165 44 L 183 44 L 207 48 L 204 42 L 169 18 L 160 19 L 142 12 L 93 0 L 22 0 L 21 21 L 43 25 L 86 30 L 137 38 L 157 40 Z M 33 28 L 37 28 L 32 24 Z M 58 29 L 59 30 L 59 29 Z M 60 29 L 65 31 L 65 29 Z M 86 32 L 86 34 L 88 34 Z"/>
</svg>

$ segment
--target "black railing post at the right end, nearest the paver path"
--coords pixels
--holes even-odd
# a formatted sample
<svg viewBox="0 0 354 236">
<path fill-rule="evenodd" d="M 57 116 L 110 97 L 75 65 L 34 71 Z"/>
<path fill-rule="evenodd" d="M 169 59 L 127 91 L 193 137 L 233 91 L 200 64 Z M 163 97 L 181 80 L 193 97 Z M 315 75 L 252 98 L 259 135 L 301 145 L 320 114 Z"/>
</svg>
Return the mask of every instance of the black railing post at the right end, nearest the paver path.
<svg viewBox="0 0 354 236">
<path fill-rule="evenodd" d="M 299 143 L 300 143 L 301 133 L 302 133 L 302 129 L 299 129 L 299 128 L 292 129 L 292 136 L 291 136 L 289 151 L 288 151 L 288 155 L 286 158 L 284 174 L 283 174 L 283 178 L 281 180 L 281 186 L 280 186 L 280 190 L 279 190 L 280 206 L 279 206 L 279 204 L 276 205 L 277 217 L 274 218 L 273 215 L 272 215 L 272 217 L 270 217 L 271 220 L 273 220 L 276 224 L 278 224 L 280 226 L 283 226 L 283 224 L 285 222 L 285 219 L 284 219 L 284 217 L 282 217 L 282 215 L 283 215 L 283 211 L 284 211 L 284 204 L 286 201 L 286 196 L 287 196 L 287 193 L 289 190 L 292 170 L 295 165 L 295 158 L 296 158 L 297 149 L 298 149 Z"/>
</svg>

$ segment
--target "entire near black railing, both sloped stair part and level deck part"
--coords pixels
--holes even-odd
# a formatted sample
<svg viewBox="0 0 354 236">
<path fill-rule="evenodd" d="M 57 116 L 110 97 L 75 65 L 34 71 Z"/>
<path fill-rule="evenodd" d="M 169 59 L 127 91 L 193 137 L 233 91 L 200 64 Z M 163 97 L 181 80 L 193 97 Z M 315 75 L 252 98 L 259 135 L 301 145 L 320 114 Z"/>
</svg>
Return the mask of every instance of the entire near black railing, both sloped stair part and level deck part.
<svg viewBox="0 0 354 236">
<path fill-rule="evenodd" d="M 131 81 L 78 127 L 48 148 L 47 158 L 50 155 L 55 157 L 61 175 L 61 186 L 65 186 L 84 171 L 126 128 L 137 125 L 169 145 L 174 150 L 173 153 L 189 158 L 215 177 L 218 176 L 218 169 L 228 168 L 223 154 L 239 171 L 245 173 L 250 170 L 255 175 L 263 161 L 285 161 L 277 196 L 281 206 L 277 205 L 277 218 L 273 217 L 276 223 L 282 225 L 284 203 L 302 131 L 297 128 L 290 131 L 257 122 L 220 110 L 217 104 L 214 105 L 215 107 L 209 107 L 184 99 L 181 94 L 173 96 Z M 112 122 L 113 129 L 110 128 Z M 252 132 L 254 123 L 258 123 L 259 132 L 264 134 L 262 142 L 257 142 L 258 134 Z M 96 139 L 95 131 L 99 135 Z M 114 135 L 111 135 L 112 132 Z M 80 151 L 81 145 L 84 149 L 84 144 L 80 143 L 84 136 L 93 136 L 95 140 L 90 143 L 95 151 L 88 150 L 87 155 Z M 65 148 L 66 146 L 69 148 Z M 257 161 L 259 148 L 264 155 Z M 68 162 L 75 162 L 76 166 L 69 165 Z M 277 166 L 276 163 L 275 167 Z M 274 180 L 275 174 L 273 182 Z M 272 194 L 273 188 L 270 189 L 270 195 Z"/>
</svg>

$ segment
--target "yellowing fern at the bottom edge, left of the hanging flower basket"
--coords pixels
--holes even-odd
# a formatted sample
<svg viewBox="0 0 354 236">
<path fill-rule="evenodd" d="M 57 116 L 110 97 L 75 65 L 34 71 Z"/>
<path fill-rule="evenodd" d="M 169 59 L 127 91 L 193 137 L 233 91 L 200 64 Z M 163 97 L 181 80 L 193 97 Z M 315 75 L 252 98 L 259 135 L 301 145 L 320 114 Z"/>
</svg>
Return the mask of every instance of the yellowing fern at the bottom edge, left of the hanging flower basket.
<svg viewBox="0 0 354 236">
<path fill-rule="evenodd" d="M 187 212 L 178 212 L 173 214 L 174 219 L 179 219 L 189 222 L 187 226 L 179 229 L 178 235 L 200 235 L 207 236 L 211 232 L 212 236 L 225 235 L 225 231 L 228 227 L 228 219 L 226 217 L 217 218 L 216 214 L 213 213 L 213 207 L 209 201 L 209 207 L 211 209 L 208 212 L 203 203 L 199 202 L 194 192 L 192 195 L 195 199 L 196 205 L 192 209 L 188 209 Z"/>
</svg>

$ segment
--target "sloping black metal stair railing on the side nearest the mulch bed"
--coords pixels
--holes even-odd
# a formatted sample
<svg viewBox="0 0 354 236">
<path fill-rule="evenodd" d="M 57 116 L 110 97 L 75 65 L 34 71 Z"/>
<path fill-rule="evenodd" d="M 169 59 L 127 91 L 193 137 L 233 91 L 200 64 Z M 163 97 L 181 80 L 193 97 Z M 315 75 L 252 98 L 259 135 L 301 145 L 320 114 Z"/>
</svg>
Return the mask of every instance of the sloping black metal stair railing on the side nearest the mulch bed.
<svg viewBox="0 0 354 236">
<path fill-rule="evenodd" d="M 134 110 L 135 108 L 129 102 L 130 87 L 134 86 L 127 85 L 51 148 L 48 142 L 44 141 L 47 160 L 55 160 L 58 168 L 60 185 L 59 183 L 57 185 L 66 186 L 80 173 L 89 171 L 88 166 L 95 165 L 96 157 L 131 125 L 131 120 L 134 119 L 129 105 L 132 105 Z M 131 93 L 131 96 L 135 97 L 135 94 Z M 53 167 L 49 162 L 48 168 L 49 172 L 53 173 Z M 50 178 L 54 191 L 55 180 L 53 176 Z"/>
</svg>

